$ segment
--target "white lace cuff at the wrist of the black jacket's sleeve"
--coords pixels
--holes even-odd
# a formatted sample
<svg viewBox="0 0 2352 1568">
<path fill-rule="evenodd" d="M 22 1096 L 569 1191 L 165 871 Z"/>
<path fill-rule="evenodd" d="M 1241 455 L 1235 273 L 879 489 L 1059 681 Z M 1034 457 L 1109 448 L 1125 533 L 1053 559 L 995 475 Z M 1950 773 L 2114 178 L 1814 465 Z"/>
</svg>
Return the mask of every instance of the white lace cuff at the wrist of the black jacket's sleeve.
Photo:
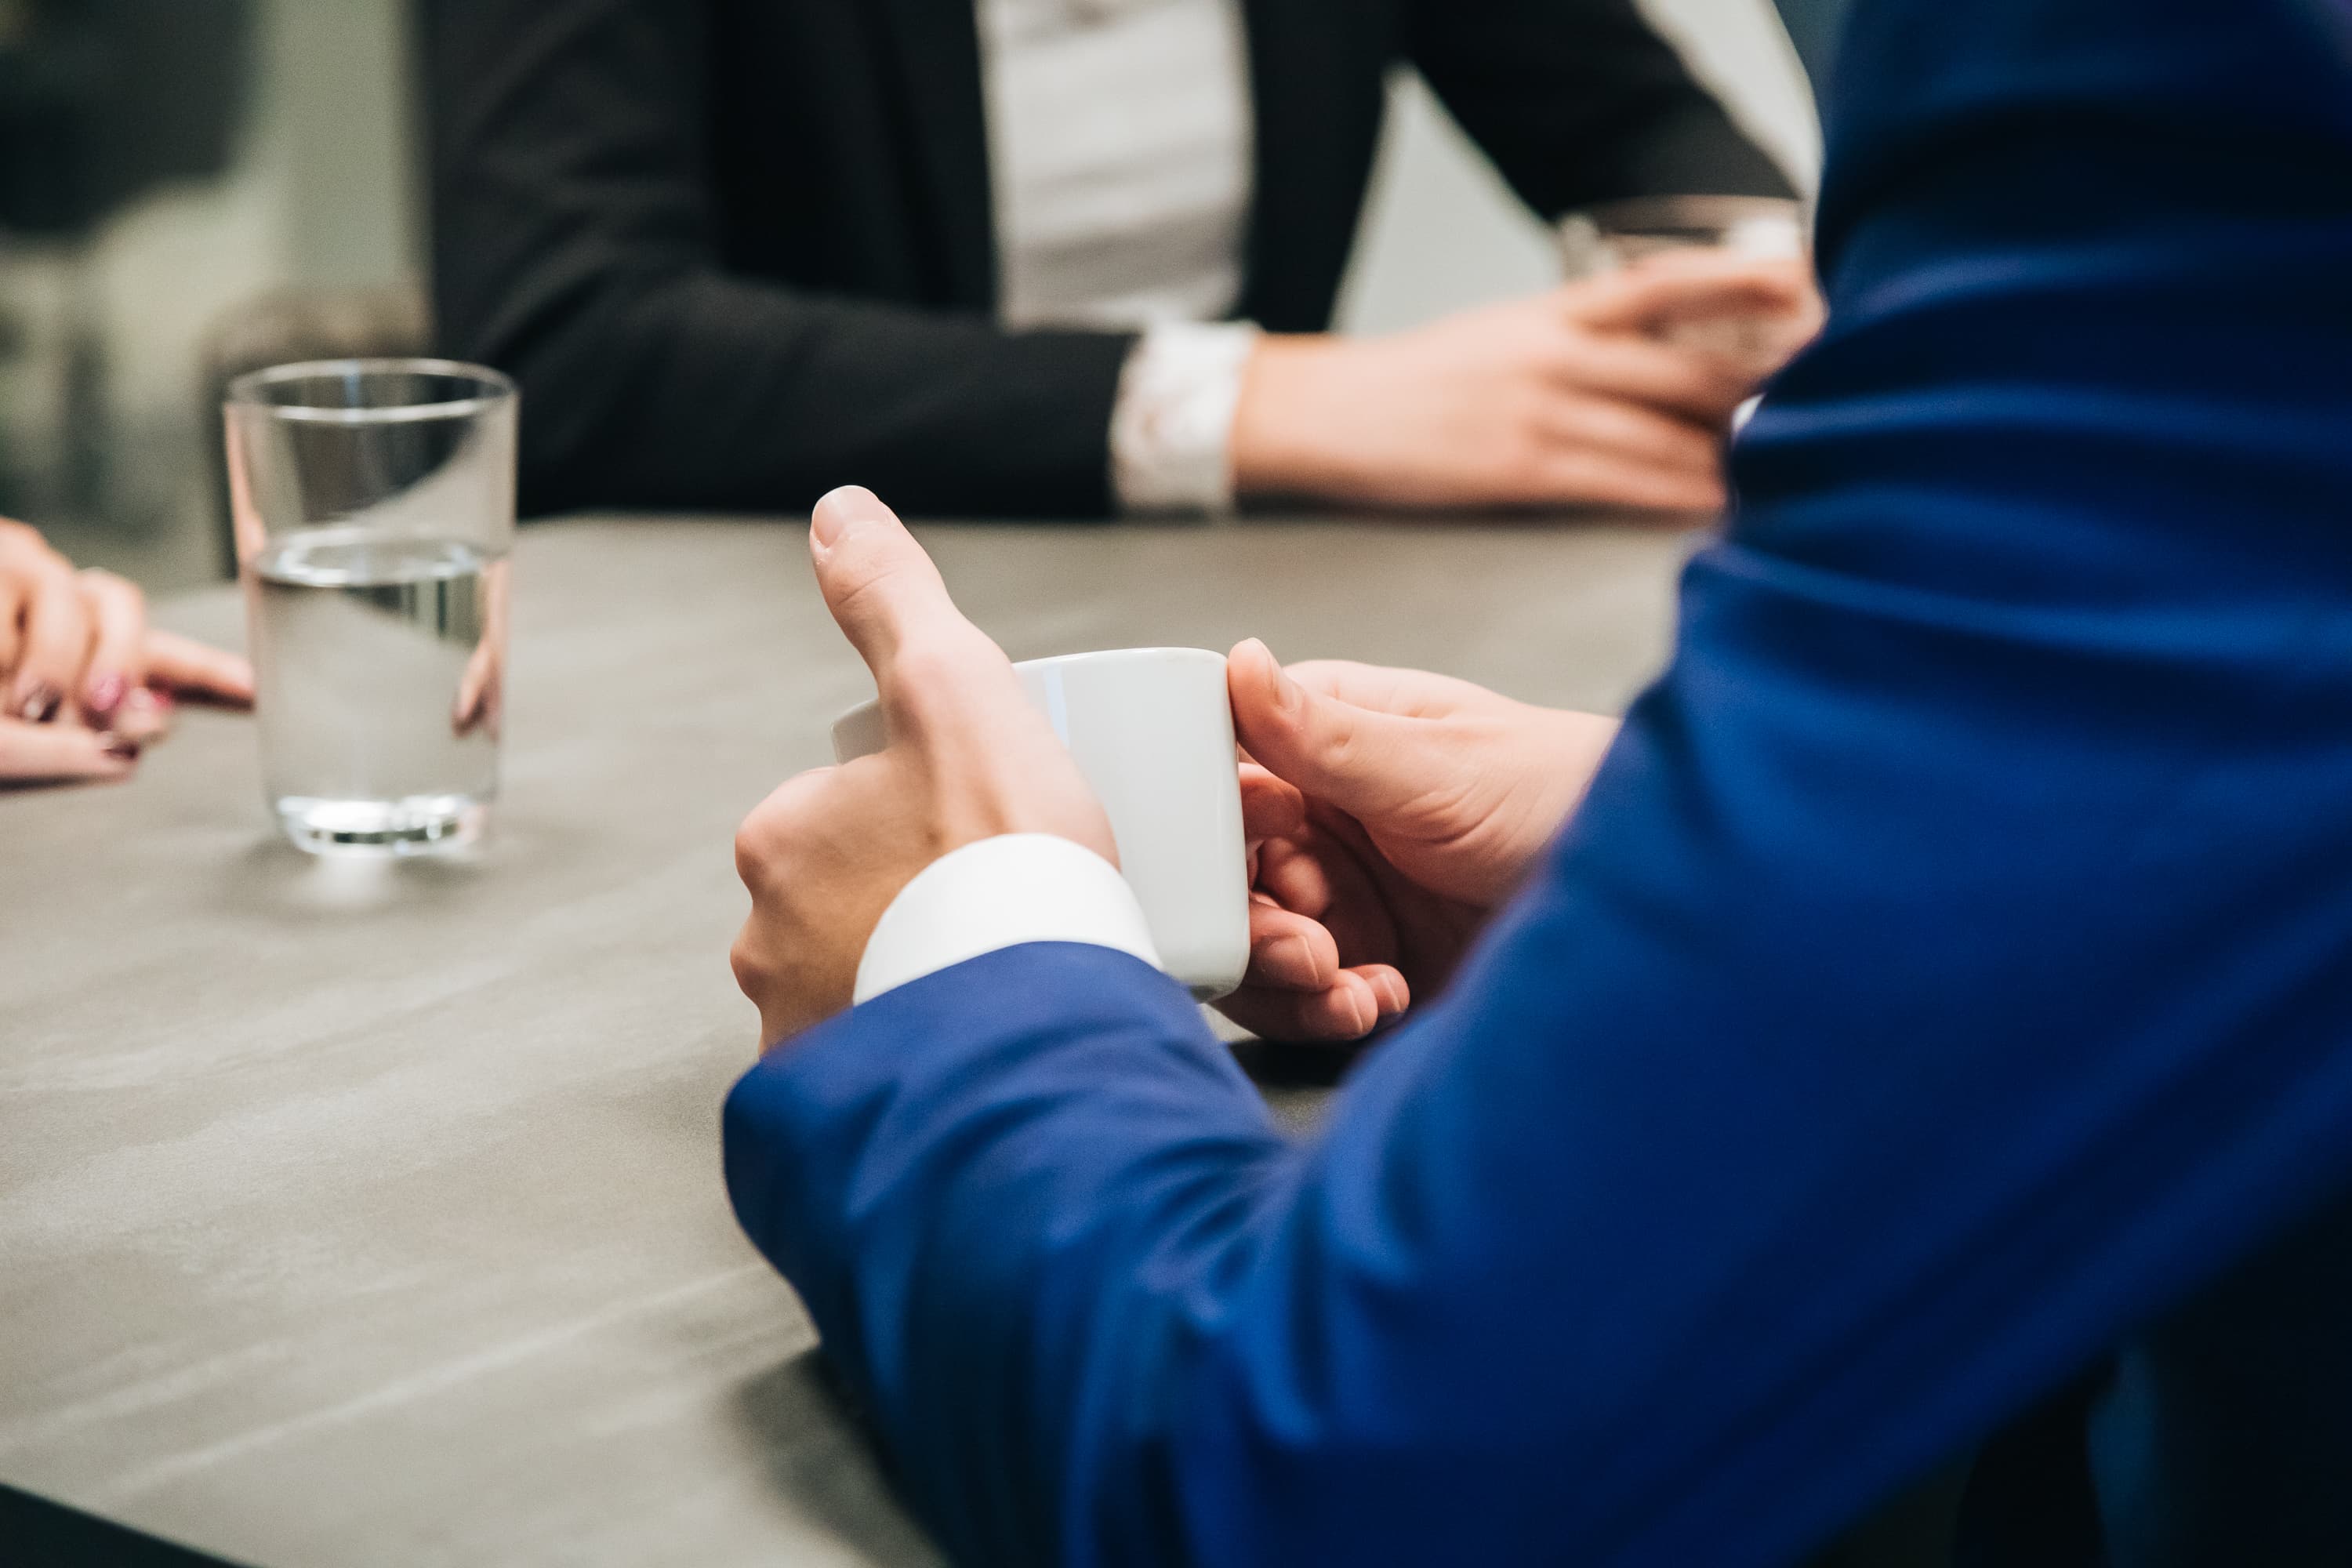
<svg viewBox="0 0 2352 1568">
<path fill-rule="evenodd" d="M 1162 322 L 1136 341 L 1110 409 L 1122 510 L 1232 510 L 1232 411 L 1256 346 L 1251 322 Z"/>
</svg>

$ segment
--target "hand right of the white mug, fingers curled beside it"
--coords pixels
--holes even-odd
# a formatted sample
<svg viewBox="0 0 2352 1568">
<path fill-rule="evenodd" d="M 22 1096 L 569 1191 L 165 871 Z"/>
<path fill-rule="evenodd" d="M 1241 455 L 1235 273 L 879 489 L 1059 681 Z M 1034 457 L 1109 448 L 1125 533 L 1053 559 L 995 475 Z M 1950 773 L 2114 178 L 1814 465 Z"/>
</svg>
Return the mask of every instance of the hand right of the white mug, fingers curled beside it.
<svg viewBox="0 0 2352 1568">
<path fill-rule="evenodd" d="M 1249 976 L 1218 1004 L 1272 1039 L 1359 1039 L 1444 985 L 1618 729 L 1418 670 L 1282 670 L 1254 639 L 1225 675 L 1244 816 L 1303 797 L 1256 846 Z"/>
</svg>

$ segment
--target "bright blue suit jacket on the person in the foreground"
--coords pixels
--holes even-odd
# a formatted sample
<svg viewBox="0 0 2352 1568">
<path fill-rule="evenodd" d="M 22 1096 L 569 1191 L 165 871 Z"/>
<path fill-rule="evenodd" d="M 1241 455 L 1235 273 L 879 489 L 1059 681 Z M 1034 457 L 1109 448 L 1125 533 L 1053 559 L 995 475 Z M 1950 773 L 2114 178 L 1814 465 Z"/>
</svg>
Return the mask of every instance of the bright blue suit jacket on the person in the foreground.
<svg viewBox="0 0 2352 1568">
<path fill-rule="evenodd" d="M 1317 1140 L 1065 945 L 729 1100 L 960 1561 L 1780 1563 L 2117 1352 L 2117 1561 L 2352 1542 L 2347 1253 L 2279 1241 L 2352 1180 L 2352 16 L 1842 47 L 1672 668 Z"/>
</svg>

